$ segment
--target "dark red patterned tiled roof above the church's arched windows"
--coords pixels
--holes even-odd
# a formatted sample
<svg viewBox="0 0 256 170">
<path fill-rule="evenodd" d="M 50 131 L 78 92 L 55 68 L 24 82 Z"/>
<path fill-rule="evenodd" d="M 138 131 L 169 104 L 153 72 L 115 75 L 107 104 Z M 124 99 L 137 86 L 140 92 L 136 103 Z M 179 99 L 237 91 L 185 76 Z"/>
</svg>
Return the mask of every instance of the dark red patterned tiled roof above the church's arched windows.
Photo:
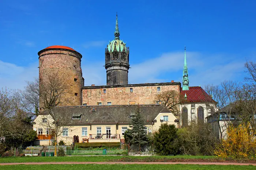
<svg viewBox="0 0 256 170">
<path fill-rule="evenodd" d="M 181 90 L 181 95 L 185 96 L 185 94 L 187 95 L 187 100 L 184 102 L 214 102 L 211 96 L 199 86 L 189 87 L 189 90 Z"/>
</svg>

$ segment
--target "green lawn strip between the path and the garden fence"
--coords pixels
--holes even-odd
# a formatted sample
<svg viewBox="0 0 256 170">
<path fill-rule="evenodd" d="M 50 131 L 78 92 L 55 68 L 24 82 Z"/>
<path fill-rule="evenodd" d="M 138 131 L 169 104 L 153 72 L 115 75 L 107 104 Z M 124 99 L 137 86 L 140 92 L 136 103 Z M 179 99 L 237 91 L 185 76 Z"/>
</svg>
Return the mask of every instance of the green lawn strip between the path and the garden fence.
<svg viewBox="0 0 256 170">
<path fill-rule="evenodd" d="M 146 157 L 132 157 L 132 156 L 92 156 L 92 157 L 5 157 L 0 158 L 0 163 L 8 162 L 106 162 L 113 159 L 121 159 L 123 157 L 143 159 Z M 184 159 L 214 159 L 216 156 L 153 156 L 155 158 L 184 158 Z"/>
</svg>

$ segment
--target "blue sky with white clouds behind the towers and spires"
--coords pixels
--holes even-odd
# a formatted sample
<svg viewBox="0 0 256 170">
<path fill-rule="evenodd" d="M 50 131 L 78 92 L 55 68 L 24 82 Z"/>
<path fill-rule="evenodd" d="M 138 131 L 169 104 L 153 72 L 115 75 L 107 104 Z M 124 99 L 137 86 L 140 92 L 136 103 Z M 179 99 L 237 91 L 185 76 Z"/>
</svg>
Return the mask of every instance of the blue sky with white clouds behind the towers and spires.
<svg viewBox="0 0 256 170">
<path fill-rule="evenodd" d="M 105 84 L 105 48 L 130 47 L 130 83 L 182 81 L 184 45 L 190 86 L 242 81 L 256 60 L 256 1 L 0 0 L 0 87 L 38 76 L 37 52 L 53 45 L 83 55 L 85 84 Z"/>
</svg>

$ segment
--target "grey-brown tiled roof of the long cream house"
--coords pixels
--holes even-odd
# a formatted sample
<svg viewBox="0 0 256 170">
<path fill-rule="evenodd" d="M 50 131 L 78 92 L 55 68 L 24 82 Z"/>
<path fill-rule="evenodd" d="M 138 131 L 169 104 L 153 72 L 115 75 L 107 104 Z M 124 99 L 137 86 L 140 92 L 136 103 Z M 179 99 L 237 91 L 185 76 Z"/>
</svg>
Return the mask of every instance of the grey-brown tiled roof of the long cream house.
<svg viewBox="0 0 256 170">
<path fill-rule="evenodd" d="M 57 107 L 65 114 L 67 122 L 72 125 L 98 123 L 130 123 L 130 115 L 134 115 L 138 105 L 111 105 L 111 106 L 65 106 Z M 151 124 L 160 112 L 170 112 L 159 104 L 139 105 L 140 113 L 146 124 Z M 42 112 L 41 114 L 44 114 Z M 80 119 L 72 119 L 72 115 L 80 115 Z"/>
</svg>

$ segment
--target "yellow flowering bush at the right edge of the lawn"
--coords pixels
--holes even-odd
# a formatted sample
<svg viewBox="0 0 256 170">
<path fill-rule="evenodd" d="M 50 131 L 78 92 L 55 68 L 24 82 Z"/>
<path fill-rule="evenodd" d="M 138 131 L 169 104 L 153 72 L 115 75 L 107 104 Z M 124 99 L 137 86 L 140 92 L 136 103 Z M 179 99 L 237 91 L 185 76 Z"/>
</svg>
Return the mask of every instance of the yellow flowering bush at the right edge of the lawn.
<svg viewBox="0 0 256 170">
<path fill-rule="evenodd" d="M 222 140 L 214 153 L 222 158 L 255 158 L 256 139 L 250 131 L 249 125 L 240 124 L 238 127 L 231 125 L 227 131 L 227 139 Z"/>
</svg>

